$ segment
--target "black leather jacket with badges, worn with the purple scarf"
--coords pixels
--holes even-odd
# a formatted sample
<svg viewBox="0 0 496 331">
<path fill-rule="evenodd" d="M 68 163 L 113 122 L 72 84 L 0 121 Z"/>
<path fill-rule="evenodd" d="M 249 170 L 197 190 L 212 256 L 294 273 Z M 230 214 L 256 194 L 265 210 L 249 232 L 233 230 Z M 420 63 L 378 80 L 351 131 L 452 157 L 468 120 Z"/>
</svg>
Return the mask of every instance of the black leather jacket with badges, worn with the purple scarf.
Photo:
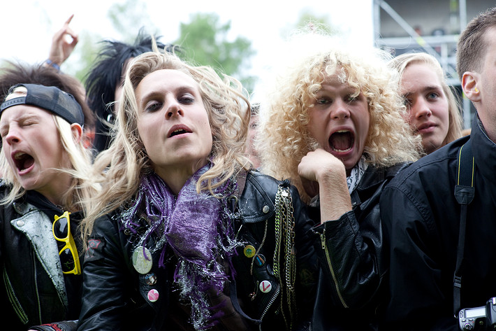
<svg viewBox="0 0 496 331">
<path fill-rule="evenodd" d="M 231 295 L 235 308 L 238 305 L 236 302 L 239 303 L 238 310 L 242 309 L 242 312 L 238 313 L 242 316 L 246 330 L 284 330 L 283 316 L 279 312 L 281 284 L 273 272 L 275 194 L 279 184 L 282 182 L 250 171 L 235 206 L 241 214 L 235 224 L 238 239 L 251 244 L 256 250 L 264 243 L 258 252 L 264 260 L 261 265 L 247 258 L 243 247 L 238 249 L 238 255 L 233 258 L 235 282 L 231 282 L 224 290 L 226 295 Z M 309 229 L 314 222 L 307 217 L 296 188 L 291 187 L 291 197 L 296 220 L 296 300 L 299 302 L 302 321 L 305 317 L 309 318 L 314 301 L 316 256 L 309 239 L 312 235 Z M 119 230 L 118 220 L 105 216 L 96 221 L 90 241 L 91 249 L 83 267 L 83 301 L 78 330 L 191 330 L 187 314 L 177 309 L 177 297 L 171 291 L 171 272 L 175 267 L 173 261 L 166 263 L 165 268 L 158 267 L 160 252 L 152 254 L 153 267 L 150 273 L 156 275 L 156 283 L 148 285 L 145 275 L 138 274 L 131 261 L 133 239 L 132 234 Z M 270 281 L 270 292 L 261 292 L 262 281 Z M 147 299 L 147 293 L 152 289 L 159 293 L 156 302 Z M 184 320 L 181 319 L 183 315 Z M 256 320 L 261 320 L 261 325 Z M 222 322 L 215 328 L 229 330 Z"/>
</svg>

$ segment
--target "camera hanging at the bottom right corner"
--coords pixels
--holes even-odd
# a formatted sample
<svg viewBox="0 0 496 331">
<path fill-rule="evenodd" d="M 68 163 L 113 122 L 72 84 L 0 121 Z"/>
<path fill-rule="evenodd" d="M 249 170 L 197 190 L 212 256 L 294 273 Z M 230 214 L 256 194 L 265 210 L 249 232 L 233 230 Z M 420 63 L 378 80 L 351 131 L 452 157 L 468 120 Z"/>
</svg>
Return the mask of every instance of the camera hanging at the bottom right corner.
<svg viewBox="0 0 496 331">
<path fill-rule="evenodd" d="M 496 330 L 496 297 L 488 300 L 486 306 L 460 310 L 458 326 L 462 331 Z"/>
</svg>

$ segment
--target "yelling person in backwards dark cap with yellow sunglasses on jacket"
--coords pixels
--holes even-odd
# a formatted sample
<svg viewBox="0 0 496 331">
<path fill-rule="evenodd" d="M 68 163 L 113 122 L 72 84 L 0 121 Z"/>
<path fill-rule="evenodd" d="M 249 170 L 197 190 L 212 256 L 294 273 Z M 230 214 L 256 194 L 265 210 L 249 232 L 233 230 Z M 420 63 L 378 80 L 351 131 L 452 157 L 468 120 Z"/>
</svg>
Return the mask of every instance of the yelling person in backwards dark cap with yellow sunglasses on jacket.
<svg viewBox="0 0 496 331">
<path fill-rule="evenodd" d="M 2 330 L 75 330 L 78 225 L 98 190 L 86 185 L 84 120 L 74 97 L 53 86 L 14 85 L 0 105 Z"/>
</svg>

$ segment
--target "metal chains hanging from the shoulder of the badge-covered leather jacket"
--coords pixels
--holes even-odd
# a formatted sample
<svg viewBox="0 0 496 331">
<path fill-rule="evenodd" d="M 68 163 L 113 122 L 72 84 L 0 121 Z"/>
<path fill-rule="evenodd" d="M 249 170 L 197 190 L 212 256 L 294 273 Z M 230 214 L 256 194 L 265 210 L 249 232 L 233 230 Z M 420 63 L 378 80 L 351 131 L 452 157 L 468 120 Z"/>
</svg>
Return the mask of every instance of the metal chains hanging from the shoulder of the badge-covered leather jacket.
<svg viewBox="0 0 496 331">
<path fill-rule="evenodd" d="M 274 275 L 282 286 L 280 309 L 286 323 L 286 328 L 289 330 L 293 328 L 293 321 L 296 318 L 294 227 L 293 199 L 291 199 L 289 188 L 279 185 L 275 196 Z M 289 316 L 286 316 L 286 309 L 284 309 L 285 301 Z"/>
</svg>

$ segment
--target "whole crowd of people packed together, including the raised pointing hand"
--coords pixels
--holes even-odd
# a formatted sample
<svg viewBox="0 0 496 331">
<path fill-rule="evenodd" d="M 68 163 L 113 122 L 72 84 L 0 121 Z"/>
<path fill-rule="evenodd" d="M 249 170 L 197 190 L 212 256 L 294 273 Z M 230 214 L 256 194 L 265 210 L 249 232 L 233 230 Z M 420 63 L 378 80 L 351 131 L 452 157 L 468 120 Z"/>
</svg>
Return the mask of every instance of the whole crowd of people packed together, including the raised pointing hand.
<svg viewBox="0 0 496 331">
<path fill-rule="evenodd" d="M 253 103 L 143 30 L 83 84 L 71 20 L 0 69 L 2 328 L 493 330 L 496 8 L 469 135 L 423 52 L 300 31 Z"/>
</svg>

